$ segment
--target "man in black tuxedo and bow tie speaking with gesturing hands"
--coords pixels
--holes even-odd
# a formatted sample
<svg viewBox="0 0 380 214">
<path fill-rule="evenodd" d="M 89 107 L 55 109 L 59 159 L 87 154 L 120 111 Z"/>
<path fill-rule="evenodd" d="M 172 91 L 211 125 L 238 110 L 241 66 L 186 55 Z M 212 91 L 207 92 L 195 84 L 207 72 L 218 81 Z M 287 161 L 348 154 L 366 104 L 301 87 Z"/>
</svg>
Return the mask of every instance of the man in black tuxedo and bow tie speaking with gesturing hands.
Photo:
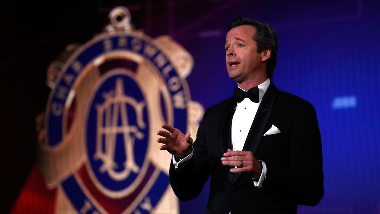
<svg viewBox="0 0 380 214">
<path fill-rule="evenodd" d="M 211 174 L 206 213 L 296 213 L 323 196 L 322 149 L 313 106 L 270 80 L 278 39 L 266 23 L 236 18 L 226 35 L 234 96 L 204 113 L 196 141 L 162 125 L 160 150 L 173 155 L 170 184 L 180 200 Z"/>
</svg>

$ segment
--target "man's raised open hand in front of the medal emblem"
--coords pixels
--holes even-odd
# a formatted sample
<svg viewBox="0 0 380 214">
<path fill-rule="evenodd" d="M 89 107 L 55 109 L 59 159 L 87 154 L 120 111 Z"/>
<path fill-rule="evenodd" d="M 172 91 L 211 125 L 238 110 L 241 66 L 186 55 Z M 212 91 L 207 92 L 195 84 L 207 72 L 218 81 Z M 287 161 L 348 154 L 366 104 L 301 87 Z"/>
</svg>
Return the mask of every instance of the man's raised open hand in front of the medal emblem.
<svg viewBox="0 0 380 214">
<path fill-rule="evenodd" d="M 163 124 L 161 127 L 168 130 L 169 132 L 157 132 L 159 136 L 162 136 L 160 138 L 157 138 L 157 142 L 164 144 L 160 146 L 160 150 L 167 150 L 177 158 L 184 158 L 191 153 L 193 139 L 190 137 L 189 132 L 185 135 L 178 129 L 168 124 Z"/>
</svg>

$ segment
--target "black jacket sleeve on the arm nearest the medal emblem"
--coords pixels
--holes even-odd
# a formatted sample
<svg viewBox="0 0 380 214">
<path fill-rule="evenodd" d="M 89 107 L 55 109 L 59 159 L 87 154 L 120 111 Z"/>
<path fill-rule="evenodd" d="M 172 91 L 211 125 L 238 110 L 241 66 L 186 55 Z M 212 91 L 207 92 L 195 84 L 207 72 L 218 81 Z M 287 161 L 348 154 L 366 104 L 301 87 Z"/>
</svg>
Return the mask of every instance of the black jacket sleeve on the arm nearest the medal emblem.
<svg viewBox="0 0 380 214">
<path fill-rule="evenodd" d="M 176 170 L 173 161 L 170 163 L 170 185 L 180 200 L 191 200 L 201 193 L 210 175 L 210 162 L 206 144 L 207 110 L 193 144 L 193 157 Z"/>
</svg>

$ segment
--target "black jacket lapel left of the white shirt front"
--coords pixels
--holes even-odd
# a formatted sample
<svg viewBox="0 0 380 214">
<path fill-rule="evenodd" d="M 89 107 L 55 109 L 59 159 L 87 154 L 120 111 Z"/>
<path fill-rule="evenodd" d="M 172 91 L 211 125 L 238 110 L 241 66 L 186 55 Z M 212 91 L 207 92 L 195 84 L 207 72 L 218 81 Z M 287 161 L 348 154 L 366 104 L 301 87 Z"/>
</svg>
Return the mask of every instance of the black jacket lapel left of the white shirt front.
<svg viewBox="0 0 380 214">
<path fill-rule="evenodd" d="M 231 100 L 228 102 L 226 105 L 226 109 L 223 113 L 223 118 L 222 118 L 222 124 L 220 128 L 220 157 L 223 157 L 223 154 L 227 152 L 227 149 L 231 149 L 231 122 L 232 122 L 232 116 L 234 114 L 234 102 L 235 99 L 231 98 Z M 227 171 L 228 178 L 232 182 L 233 180 L 233 173 L 230 172 L 230 166 L 224 166 L 225 170 Z"/>
</svg>

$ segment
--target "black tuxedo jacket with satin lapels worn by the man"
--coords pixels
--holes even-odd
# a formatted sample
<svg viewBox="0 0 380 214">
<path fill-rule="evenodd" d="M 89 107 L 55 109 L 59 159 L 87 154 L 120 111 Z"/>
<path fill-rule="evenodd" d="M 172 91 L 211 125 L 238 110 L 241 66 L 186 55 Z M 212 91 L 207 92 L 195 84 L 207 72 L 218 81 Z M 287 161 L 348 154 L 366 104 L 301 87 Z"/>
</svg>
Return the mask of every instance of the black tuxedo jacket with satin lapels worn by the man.
<svg viewBox="0 0 380 214">
<path fill-rule="evenodd" d="M 298 204 L 318 204 L 323 196 L 322 148 L 313 106 L 271 82 L 243 148 L 266 163 L 266 178 L 258 188 L 249 174 L 233 174 L 220 161 L 231 148 L 235 104 L 231 97 L 207 109 L 193 157 L 177 170 L 170 164 L 170 184 L 177 197 L 198 196 L 211 174 L 205 213 L 296 213 Z M 281 133 L 263 136 L 273 124 Z"/>
</svg>

